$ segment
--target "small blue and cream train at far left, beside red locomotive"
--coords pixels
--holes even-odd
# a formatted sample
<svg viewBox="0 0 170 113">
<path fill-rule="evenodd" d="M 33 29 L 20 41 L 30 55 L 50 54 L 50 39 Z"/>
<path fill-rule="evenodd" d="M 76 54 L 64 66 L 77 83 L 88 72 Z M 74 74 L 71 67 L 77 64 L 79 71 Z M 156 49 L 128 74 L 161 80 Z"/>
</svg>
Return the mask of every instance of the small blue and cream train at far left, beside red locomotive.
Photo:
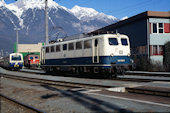
<svg viewBox="0 0 170 113">
<path fill-rule="evenodd" d="M 11 53 L 0 61 L 0 66 L 11 70 L 22 69 L 23 55 L 21 53 Z"/>
</svg>

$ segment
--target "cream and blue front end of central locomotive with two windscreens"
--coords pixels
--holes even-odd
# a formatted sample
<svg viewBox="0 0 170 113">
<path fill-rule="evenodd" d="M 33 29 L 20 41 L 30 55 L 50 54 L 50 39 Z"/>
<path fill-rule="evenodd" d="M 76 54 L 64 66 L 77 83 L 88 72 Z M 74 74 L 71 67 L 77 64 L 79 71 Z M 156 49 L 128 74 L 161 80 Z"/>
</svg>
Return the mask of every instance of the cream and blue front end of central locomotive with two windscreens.
<svg viewBox="0 0 170 113">
<path fill-rule="evenodd" d="M 110 54 L 111 72 L 124 74 L 131 67 L 130 43 L 125 35 L 117 34 L 117 37 L 108 38 L 108 55 Z M 108 60 L 109 61 L 109 60 Z"/>
</svg>

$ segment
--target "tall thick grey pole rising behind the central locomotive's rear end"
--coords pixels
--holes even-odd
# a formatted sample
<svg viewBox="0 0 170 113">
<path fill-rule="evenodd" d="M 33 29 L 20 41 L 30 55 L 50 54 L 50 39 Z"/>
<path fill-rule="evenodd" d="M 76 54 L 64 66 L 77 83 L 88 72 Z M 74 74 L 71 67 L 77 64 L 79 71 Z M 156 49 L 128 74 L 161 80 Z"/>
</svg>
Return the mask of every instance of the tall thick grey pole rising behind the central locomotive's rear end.
<svg viewBox="0 0 170 113">
<path fill-rule="evenodd" d="M 48 44 L 48 0 L 45 0 L 45 44 Z"/>
</svg>

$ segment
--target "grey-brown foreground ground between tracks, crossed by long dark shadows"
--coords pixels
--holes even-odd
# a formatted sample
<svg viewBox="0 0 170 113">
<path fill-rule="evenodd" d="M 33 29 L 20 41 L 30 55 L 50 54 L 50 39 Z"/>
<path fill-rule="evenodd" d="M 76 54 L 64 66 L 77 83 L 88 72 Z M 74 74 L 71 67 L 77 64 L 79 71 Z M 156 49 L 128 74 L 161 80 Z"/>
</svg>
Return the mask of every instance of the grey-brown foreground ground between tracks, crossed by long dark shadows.
<svg viewBox="0 0 170 113">
<path fill-rule="evenodd" d="M 170 107 L 1 77 L 0 92 L 46 113 L 169 112 Z M 83 89 L 81 89 L 83 90 Z M 88 89 L 84 89 L 85 91 Z M 4 111 L 1 111 L 2 113 Z"/>
</svg>

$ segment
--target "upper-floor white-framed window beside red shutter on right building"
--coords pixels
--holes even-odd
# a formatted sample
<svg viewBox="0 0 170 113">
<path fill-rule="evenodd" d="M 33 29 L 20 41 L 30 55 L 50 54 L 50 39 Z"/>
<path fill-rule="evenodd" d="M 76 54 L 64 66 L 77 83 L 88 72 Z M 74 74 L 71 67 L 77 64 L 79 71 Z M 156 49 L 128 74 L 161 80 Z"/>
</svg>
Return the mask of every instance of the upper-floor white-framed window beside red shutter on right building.
<svg viewBox="0 0 170 113">
<path fill-rule="evenodd" d="M 152 23 L 152 33 L 164 33 L 164 24 Z"/>
</svg>

